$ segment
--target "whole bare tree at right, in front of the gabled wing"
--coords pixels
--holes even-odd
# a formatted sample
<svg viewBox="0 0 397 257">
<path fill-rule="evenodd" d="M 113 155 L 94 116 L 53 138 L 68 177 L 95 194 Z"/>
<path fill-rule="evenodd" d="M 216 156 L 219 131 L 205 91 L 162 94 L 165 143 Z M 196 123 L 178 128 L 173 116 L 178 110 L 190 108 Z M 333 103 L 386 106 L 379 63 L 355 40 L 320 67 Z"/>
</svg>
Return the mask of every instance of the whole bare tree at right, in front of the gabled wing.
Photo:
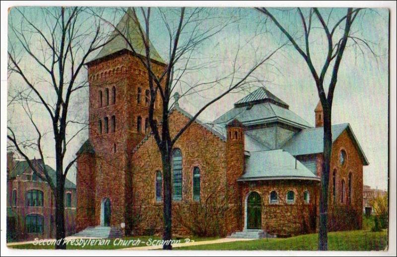
<svg viewBox="0 0 397 257">
<path fill-rule="evenodd" d="M 258 11 L 263 13 L 281 33 L 287 37 L 289 42 L 293 45 L 294 49 L 304 58 L 309 70 L 316 83 L 318 95 L 320 98 L 321 105 L 323 106 L 323 117 L 324 117 L 324 162 L 322 167 L 322 190 L 320 195 L 320 227 L 319 227 L 319 250 L 328 249 L 328 235 L 327 235 L 327 224 L 328 224 L 328 189 L 330 181 L 330 165 L 331 165 L 331 151 L 332 151 L 332 134 L 331 134 L 331 109 L 333 93 L 335 90 L 339 66 L 342 61 L 343 53 L 346 49 L 347 42 L 351 41 L 352 45 L 357 47 L 360 51 L 363 48 L 368 48 L 372 54 L 374 52 L 370 48 L 370 42 L 365 39 L 359 38 L 352 33 L 352 25 L 360 13 L 362 8 L 347 8 L 346 13 L 335 17 L 335 13 L 332 13 L 332 9 L 329 10 L 328 17 L 324 17 L 318 8 L 309 8 L 302 10 L 297 8 L 297 13 L 301 19 L 303 27 L 303 47 L 300 43 L 301 37 L 296 36 L 295 33 L 288 32 L 288 28 L 282 25 L 268 8 L 260 7 L 256 8 Z M 285 9 L 286 12 L 290 12 L 292 9 Z M 293 8 L 295 10 L 295 8 Z M 331 21 L 331 22 L 330 22 Z M 330 25 L 334 21 L 334 24 Z M 314 25 L 313 25 L 314 24 Z M 313 56 L 320 55 L 320 52 L 310 51 L 312 46 L 310 42 L 310 33 L 313 29 L 320 29 L 324 32 L 323 35 L 327 38 L 328 51 L 326 52 L 326 58 L 324 60 L 323 67 L 321 70 L 317 70 L 313 64 Z M 321 55 L 320 55 L 321 56 Z M 328 70 L 331 67 L 331 74 Z M 328 83 L 328 93 L 325 91 L 324 85 L 327 83 L 326 76 L 331 77 Z"/>
</svg>

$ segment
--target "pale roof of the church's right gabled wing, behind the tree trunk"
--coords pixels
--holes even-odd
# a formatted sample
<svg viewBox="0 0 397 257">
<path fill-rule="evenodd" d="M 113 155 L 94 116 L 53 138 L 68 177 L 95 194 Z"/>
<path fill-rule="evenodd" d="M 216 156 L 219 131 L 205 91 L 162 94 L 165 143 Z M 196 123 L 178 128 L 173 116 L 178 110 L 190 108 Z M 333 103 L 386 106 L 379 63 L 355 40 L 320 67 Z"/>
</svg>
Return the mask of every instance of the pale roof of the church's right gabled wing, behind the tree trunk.
<svg viewBox="0 0 397 257">
<path fill-rule="evenodd" d="M 356 136 L 353 133 L 353 130 L 350 127 L 349 123 L 342 123 L 337 125 L 332 125 L 332 143 L 342 134 L 343 131 L 347 130 L 350 135 L 353 143 L 355 144 L 358 153 L 360 154 L 364 165 L 368 165 L 368 159 L 365 156 L 363 150 L 360 147 L 360 144 L 357 141 Z M 298 132 L 295 136 L 291 138 L 285 145 L 282 147 L 288 153 L 296 156 L 296 155 L 306 155 L 306 154 L 319 154 L 323 153 L 324 150 L 324 128 L 308 128 L 303 129 Z"/>
</svg>

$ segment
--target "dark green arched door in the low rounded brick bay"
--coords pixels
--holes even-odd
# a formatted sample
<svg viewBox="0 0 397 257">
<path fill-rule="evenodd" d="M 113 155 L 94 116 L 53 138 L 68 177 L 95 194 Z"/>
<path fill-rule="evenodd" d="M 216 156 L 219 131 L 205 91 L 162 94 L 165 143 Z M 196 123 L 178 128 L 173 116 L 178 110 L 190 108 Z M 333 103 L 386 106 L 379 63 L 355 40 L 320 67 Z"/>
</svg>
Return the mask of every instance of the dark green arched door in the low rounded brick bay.
<svg viewBox="0 0 397 257">
<path fill-rule="evenodd" d="M 262 229 L 262 199 L 257 192 L 252 192 L 248 196 L 247 228 Z"/>
</svg>

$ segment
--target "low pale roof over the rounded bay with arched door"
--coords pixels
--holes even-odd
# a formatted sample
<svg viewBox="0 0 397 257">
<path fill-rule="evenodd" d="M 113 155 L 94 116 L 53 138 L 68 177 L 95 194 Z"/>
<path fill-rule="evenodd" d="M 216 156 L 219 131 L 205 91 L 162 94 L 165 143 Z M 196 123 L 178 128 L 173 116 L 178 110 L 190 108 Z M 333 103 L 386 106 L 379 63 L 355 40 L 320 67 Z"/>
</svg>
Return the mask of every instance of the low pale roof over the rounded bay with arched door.
<svg viewBox="0 0 397 257">
<path fill-rule="evenodd" d="M 275 179 L 320 181 L 305 165 L 281 149 L 250 152 L 246 158 L 245 173 L 238 181 Z"/>
</svg>

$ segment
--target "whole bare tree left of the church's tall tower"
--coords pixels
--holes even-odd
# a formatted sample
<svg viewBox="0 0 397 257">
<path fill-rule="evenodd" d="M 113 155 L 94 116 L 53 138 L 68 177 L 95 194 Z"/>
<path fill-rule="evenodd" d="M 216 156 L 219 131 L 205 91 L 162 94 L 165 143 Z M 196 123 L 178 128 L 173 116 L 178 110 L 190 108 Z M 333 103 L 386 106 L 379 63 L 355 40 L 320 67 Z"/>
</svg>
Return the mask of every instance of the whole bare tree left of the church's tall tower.
<svg viewBox="0 0 397 257">
<path fill-rule="evenodd" d="M 11 96 L 12 102 L 8 104 L 22 106 L 34 132 L 27 138 L 19 136 L 24 128 L 13 127 L 9 123 L 7 139 L 9 147 L 27 161 L 33 172 L 47 182 L 54 193 L 56 239 L 61 242 L 56 249 L 66 249 L 64 187 L 66 175 L 77 158 L 66 164 L 66 151 L 70 142 L 86 128 L 86 122 L 69 118 L 73 116 L 70 115 L 71 106 L 78 99 L 81 89 L 88 86 L 84 76 L 85 62 L 93 51 L 109 42 L 104 40 L 101 20 L 88 14 L 87 9 L 39 7 L 32 12 L 32 8 L 14 7 L 8 22 L 9 76 L 16 74 L 24 84 L 24 89 Z M 40 15 L 33 17 L 32 13 Z M 32 106 L 35 111 L 31 110 Z M 45 129 L 42 129 L 43 120 L 40 115 L 34 115 L 41 107 L 51 120 L 51 127 L 44 126 Z M 53 135 L 55 151 L 44 153 L 43 138 L 49 134 Z M 28 156 L 29 150 L 38 152 L 43 163 L 47 156 L 55 158 L 55 181 L 45 169 L 43 172 L 37 169 Z"/>
</svg>

